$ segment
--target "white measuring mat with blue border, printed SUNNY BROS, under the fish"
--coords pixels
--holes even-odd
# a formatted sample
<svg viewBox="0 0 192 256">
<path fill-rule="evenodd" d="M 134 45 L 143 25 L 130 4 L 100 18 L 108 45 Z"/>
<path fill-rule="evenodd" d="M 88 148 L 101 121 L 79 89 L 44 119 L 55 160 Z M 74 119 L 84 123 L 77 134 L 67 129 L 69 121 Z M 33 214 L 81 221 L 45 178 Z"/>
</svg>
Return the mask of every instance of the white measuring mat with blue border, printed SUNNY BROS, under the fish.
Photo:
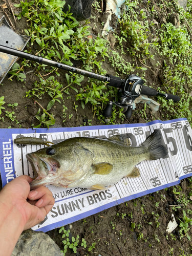
<svg viewBox="0 0 192 256">
<path fill-rule="evenodd" d="M 137 167 L 138 178 L 123 178 L 104 190 L 87 188 L 60 188 L 49 185 L 55 204 L 45 220 L 33 230 L 47 232 L 73 223 L 117 204 L 142 197 L 154 191 L 180 183 L 192 176 L 192 130 L 186 118 L 170 121 L 152 121 L 139 124 L 99 125 L 73 128 L 1 129 L 0 170 L 3 186 L 15 177 L 33 177 L 26 154 L 35 152 L 44 145 L 16 145 L 15 138 L 36 137 L 58 143 L 72 137 L 110 138 L 113 135 L 129 134 L 132 146 L 139 146 L 146 137 L 159 129 L 168 148 L 168 157 L 154 161 L 142 161 Z"/>
</svg>

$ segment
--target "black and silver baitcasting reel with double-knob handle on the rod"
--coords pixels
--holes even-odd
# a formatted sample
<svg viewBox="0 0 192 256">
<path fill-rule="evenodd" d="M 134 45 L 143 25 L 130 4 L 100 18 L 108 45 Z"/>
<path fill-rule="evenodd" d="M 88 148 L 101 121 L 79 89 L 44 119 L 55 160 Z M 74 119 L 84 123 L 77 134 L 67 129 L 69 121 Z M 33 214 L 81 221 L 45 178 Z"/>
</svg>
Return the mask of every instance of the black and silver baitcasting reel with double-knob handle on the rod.
<svg viewBox="0 0 192 256">
<path fill-rule="evenodd" d="M 124 83 L 124 84 L 123 84 Z M 130 119 L 132 116 L 133 109 L 133 101 L 140 96 L 142 87 L 143 87 L 143 79 L 141 79 L 137 75 L 129 75 L 126 77 L 125 81 L 122 81 L 121 86 L 118 90 L 118 102 L 109 101 L 106 106 L 103 116 L 110 117 L 112 114 L 113 104 L 119 106 L 119 108 L 126 108 L 126 112 L 124 113 L 126 118 Z M 121 88 L 122 87 L 122 88 Z"/>
</svg>

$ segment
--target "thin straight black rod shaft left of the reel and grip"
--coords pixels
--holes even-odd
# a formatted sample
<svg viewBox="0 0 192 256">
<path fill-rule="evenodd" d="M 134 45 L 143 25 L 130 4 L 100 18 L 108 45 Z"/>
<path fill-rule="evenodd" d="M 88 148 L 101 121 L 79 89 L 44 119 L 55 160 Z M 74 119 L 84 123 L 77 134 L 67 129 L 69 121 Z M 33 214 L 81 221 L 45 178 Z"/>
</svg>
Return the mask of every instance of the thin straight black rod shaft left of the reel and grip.
<svg viewBox="0 0 192 256">
<path fill-rule="evenodd" d="M 16 57 L 23 58 L 23 59 L 29 59 L 29 60 L 32 60 L 32 61 L 36 61 L 40 64 L 42 63 L 42 64 L 49 65 L 49 66 L 52 66 L 52 67 L 55 67 L 55 68 L 58 68 L 58 69 L 68 70 L 68 71 L 71 71 L 71 72 L 74 72 L 74 73 L 77 73 L 77 74 L 80 74 L 80 75 L 83 75 L 83 76 L 88 76 L 88 77 L 91 77 L 91 78 L 95 78 L 97 80 L 101 80 L 103 82 L 106 82 L 106 81 L 109 80 L 109 78 L 107 76 L 102 76 L 102 75 L 92 73 L 92 72 L 89 72 L 89 71 L 86 71 L 86 70 L 77 69 L 77 68 L 74 68 L 74 67 L 71 67 L 71 66 L 68 66 L 68 65 L 50 60 L 50 59 L 42 58 L 42 57 L 30 54 L 30 53 L 15 50 L 15 49 L 12 49 L 12 48 L 7 47 L 7 46 L 0 45 L 0 52 L 11 54 L 11 55 L 14 55 Z"/>
</svg>

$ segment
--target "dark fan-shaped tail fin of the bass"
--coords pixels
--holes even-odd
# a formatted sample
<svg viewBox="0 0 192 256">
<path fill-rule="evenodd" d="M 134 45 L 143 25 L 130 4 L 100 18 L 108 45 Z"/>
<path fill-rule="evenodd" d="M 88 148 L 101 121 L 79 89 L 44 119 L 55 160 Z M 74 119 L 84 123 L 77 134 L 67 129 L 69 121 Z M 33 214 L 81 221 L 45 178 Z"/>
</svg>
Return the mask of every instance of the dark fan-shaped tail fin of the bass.
<svg viewBox="0 0 192 256">
<path fill-rule="evenodd" d="M 147 148 L 149 153 L 147 160 L 156 160 L 164 158 L 168 155 L 168 150 L 161 144 L 162 135 L 160 130 L 155 130 L 146 140 L 142 143 L 142 146 Z"/>
</svg>

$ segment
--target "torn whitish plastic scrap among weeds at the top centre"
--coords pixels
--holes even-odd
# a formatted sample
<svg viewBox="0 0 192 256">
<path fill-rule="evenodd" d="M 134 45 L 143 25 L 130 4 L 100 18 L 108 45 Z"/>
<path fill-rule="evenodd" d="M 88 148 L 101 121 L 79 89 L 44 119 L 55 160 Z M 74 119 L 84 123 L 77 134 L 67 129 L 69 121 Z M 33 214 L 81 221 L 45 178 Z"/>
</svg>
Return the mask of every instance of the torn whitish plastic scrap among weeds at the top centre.
<svg viewBox="0 0 192 256">
<path fill-rule="evenodd" d="M 120 14 L 121 14 L 120 8 L 121 8 L 122 4 L 124 4 L 124 2 L 125 2 L 125 0 L 106 0 L 105 13 L 109 13 L 109 16 L 108 16 L 108 20 L 106 21 L 106 23 L 104 25 L 102 36 L 108 34 L 108 32 L 113 29 L 110 26 L 112 14 L 115 14 L 118 18 L 120 18 Z"/>
</svg>

